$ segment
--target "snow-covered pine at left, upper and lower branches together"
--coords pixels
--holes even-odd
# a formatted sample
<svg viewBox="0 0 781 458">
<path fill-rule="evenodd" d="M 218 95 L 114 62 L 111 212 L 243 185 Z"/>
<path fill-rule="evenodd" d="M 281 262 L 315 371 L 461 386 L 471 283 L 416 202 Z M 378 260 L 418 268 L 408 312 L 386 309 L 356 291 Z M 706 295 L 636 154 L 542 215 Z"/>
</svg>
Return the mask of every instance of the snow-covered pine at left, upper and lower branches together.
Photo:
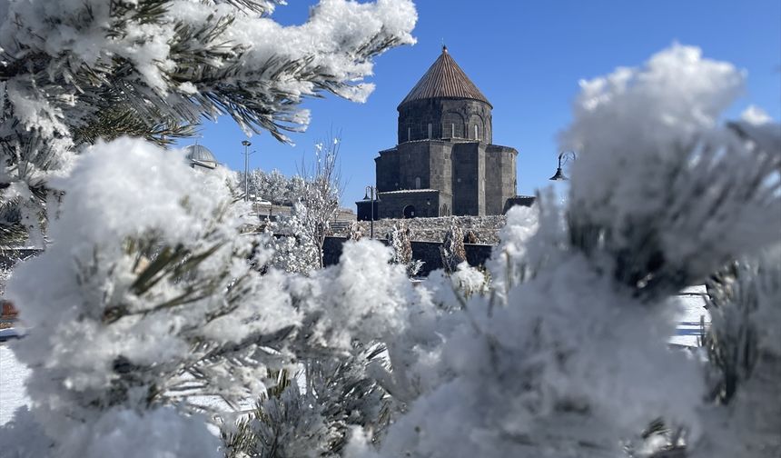
<svg viewBox="0 0 781 458">
<path fill-rule="evenodd" d="M 44 246 L 49 216 L 54 244 L 8 288 L 36 331 L 16 351 L 34 371 L 32 415 L 4 426 L 4 452 L 216 456 L 207 422 L 263 393 L 266 368 L 313 353 L 302 335 L 322 354 L 343 348 L 343 334 L 311 331 L 326 314 L 292 298 L 293 278 L 255 269 L 272 253 L 247 234 L 232 177 L 103 140 L 163 144 L 230 115 L 287 141 L 307 122 L 303 98 L 363 100 L 371 59 L 413 41 L 406 0 L 323 2 L 299 27 L 273 24 L 275 3 L 5 5 L 3 243 Z"/>
</svg>

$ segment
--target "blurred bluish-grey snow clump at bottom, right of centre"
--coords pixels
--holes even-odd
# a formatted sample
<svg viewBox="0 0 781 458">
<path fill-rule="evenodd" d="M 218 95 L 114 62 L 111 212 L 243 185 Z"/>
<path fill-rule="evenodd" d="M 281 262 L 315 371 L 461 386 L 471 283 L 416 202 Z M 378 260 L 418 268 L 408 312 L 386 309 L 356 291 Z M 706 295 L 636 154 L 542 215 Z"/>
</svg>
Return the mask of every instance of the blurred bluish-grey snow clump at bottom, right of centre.
<svg viewBox="0 0 781 458">
<path fill-rule="evenodd" d="M 512 285 L 506 301 L 473 296 L 469 318 L 442 336 L 444 377 L 394 423 L 383 456 L 590 456 L 578 443 L 603 456 L 656 414 L 696 431 L 703 384 L 667 349 L 673 307 L 612 289 L 575 256 Z"/>
</svg>

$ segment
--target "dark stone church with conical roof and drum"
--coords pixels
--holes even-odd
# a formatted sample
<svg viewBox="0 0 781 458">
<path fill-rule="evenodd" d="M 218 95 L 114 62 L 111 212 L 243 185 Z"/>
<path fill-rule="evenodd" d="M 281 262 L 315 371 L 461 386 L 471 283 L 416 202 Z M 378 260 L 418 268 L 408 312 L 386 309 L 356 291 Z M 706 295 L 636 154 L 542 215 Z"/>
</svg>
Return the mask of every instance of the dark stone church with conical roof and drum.
<svg viewBox="0 0 781 458">
<path fill-rule="evenodd" d="M 374 219 L 502 214 L 516 197 L 516 156 L 492 144 L 492 105 L 442 46 L 404 97 L 398 144 L 375 158 Z M 371 219 L 371 201 L 358 219 Z"/>
</svg>

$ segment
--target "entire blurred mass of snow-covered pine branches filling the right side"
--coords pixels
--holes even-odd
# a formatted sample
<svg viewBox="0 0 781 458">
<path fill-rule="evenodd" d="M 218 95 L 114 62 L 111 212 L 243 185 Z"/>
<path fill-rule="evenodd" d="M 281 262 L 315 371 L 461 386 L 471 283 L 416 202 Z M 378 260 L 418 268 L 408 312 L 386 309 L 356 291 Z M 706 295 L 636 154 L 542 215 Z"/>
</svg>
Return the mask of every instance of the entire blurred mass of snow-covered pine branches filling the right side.
<svg viewBox="0 0 781 458">
<path fill-rule="evenodd" d="M 739 423 L 724 456 L 777 454 L 775 286 L 752 320 L 770 363 L 743 383 L 739 412 L 708 416 L 701 365 L 667 347 L 678 291 L 781 244 L 781 151 L 719 125 L 742 82 L 680 45 L 582 82 L 562 136 L 578 149 L 566 207 L 542 194 L 538 217 L 510 210 L 489 292 L 421 314 L 406 343 L 389 343 L 394 371 L 382 375 L 406 412 L 379 450 L 357 433 L 351 456 L 618 457 L 659 418 L 691 456 L 718 453 L 733 437 L 724 425 Z M 781 139 L 777 124 L 767 132 Z M 419 287 L 453 304 L 443 285 Z"/>
</svg>

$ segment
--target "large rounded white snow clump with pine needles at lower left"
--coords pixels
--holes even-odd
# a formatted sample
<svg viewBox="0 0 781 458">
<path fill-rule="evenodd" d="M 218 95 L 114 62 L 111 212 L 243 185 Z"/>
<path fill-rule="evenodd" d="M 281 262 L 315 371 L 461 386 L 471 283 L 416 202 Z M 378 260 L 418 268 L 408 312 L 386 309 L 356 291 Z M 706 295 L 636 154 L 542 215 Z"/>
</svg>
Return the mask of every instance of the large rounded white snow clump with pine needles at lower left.
<svg viewBox="0 0 781 458">
<path fill-rule="evenodd" d="M 85 151 L 69 177 L 53 182 L 64 192 L 60 217 L 49 226 L 53 243 L 18 265 L 7 286 L 35 330 L 16 347 L 32 368 L 32 412 L 62 453 L 86 453 L 68 444 L 78 433 L 75 419 L 85 431 L 107 432 L 132 421 L 117 405 L 186 399 L 183 387 L 193 385 L 189 371 L 196 367 L 208 393 L 228 400 L 262 393 L 262 363 L 232 368 L 202 358 L 299 323 L 280 279 L 252 270 L 253 239 L 241 235 L 247 208 L 232 204 L 227 172 L 200 173 L 182 157 L 130 139 Z M 208 255 L 193 272 L 157 272 L 140 289 L 158 256 L 181 249 L 191 253 L 183 261 Z M 242 356 L 234 353 L 231 361 Z M 118 416 L 101 406 L 115 406 Z"/>
</svg>

